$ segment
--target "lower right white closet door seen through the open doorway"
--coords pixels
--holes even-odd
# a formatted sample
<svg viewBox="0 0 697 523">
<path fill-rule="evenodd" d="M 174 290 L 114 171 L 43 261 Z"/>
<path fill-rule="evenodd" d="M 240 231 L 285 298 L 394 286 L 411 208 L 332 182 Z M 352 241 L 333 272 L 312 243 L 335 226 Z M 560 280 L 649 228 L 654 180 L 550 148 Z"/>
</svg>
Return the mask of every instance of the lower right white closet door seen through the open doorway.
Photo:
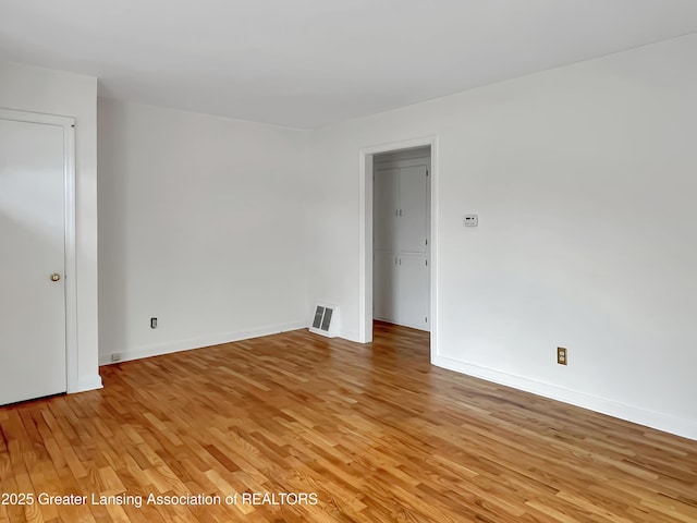
<svg viewBox="0 0 697 523">
<path fill-rule="evenodd" d="M 398 323 L 430 330 L 430 276 L 426 256 L 403 254 L 399 262 Z"/>
</svg>

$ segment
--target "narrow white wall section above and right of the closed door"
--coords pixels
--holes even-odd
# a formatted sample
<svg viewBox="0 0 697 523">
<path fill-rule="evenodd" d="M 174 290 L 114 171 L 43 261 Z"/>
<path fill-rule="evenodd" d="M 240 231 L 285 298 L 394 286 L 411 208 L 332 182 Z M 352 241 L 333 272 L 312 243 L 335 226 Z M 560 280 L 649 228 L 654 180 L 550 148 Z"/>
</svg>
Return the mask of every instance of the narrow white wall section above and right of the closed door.
<svg viewBox="0 0 697 523">
<path fill-rule="evenodd" d="M 101 387 L 97 318 L 97 78 L 0 62 L 0 107 L 75 118 L 77 384 Z"/>
</svg>

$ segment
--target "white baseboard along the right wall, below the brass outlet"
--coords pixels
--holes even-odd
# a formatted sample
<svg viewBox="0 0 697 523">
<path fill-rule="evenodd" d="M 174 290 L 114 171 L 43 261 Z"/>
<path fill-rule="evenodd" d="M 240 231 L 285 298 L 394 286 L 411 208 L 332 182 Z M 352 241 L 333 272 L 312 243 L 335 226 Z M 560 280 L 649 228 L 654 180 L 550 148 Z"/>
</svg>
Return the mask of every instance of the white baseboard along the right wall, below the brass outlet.
<svg viewBox="0 0 697 523">
<path fill-rule="evenodd" d="M 676 436 L 697 440 L 697 423 L 689 419 L 683 419 L 660 412 L 626 405 L 616 401 L 590 396 L 585 392 L 564 389 L 555 385 L 535 381 L 522 376 L 501 373 L 499 370 L 464 363 L 445 356 L 436 355 L 432 358 L 432 363 L 439 367 L 455 370 L 476 378 L 486 379 L 487 381 L 505 385 L 506 387 L 524 390 L 526 392 L 531 392 L 563 403 L 570 403 L 572 405 L 588 409 L 612 417 L 644 425 L 646 427 L 656 428 Z"/>
</svg>

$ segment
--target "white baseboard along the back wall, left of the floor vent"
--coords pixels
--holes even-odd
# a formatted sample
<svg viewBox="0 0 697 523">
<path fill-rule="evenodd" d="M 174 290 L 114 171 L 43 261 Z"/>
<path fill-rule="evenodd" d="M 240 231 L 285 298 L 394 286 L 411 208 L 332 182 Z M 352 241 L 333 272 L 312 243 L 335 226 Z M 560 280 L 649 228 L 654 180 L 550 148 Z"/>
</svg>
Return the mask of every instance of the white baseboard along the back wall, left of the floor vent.
<svg viewBox="0 0 697 523">
<path fill-rule="evenodd" d="M 119 352 L 121 360 L 112 361 L 114 353 L 99 354 L 99 365 L 111 365 L 120 362 L 130 362 L 140 360 L 143 357 L 160 356 L 162 354 L 171 354 L 172 352 L 189 351 L 192 349 L 200 349 L 201 346 L 219 345 L 221 343 L 231 343 L 233 341 L 248 340 L 259 338 L 261 336 L 277 335 L 289 330 L 297 330 L 306 328 L 306 321 L 293 321 L 289 324 L 279 324 L 261 327 L 253 330 L 240 330 L 236 332 L 223 332 L 217 335 L 207 335 L 186 340 L 174 340 L 166 343 L 157 343 L 154 345 L 145 345 L 133 349 L 124 349 Z"/>
</svg>

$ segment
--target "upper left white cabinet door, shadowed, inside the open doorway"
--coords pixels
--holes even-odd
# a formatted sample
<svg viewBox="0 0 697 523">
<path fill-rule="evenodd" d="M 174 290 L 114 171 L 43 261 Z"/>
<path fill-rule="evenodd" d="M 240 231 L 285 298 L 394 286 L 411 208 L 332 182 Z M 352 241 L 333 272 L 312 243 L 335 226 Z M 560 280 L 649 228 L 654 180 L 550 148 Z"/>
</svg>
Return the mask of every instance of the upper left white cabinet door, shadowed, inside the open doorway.
<svg viewBox="0 0 697 523">
<path fill-rule="evenodd" d="M 399 169 L 375 171 L 372 185 L 375 223 L 372 248 L 375 250 L 393 251 L 396 247 L 398 175 Z"/>
</svg>

